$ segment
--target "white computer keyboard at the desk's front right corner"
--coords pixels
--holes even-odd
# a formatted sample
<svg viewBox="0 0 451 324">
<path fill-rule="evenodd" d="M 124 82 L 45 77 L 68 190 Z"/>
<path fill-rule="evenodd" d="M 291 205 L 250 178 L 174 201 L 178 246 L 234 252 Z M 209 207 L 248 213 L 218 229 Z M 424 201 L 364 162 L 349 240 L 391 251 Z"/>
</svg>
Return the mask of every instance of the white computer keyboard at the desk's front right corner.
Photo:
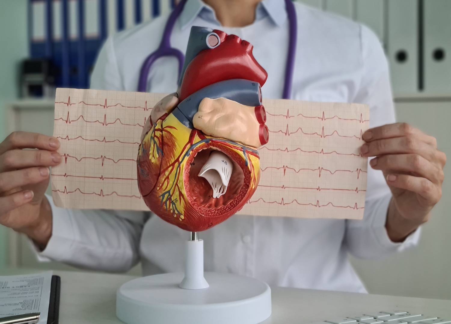
<svg viewBox="0 0 451 324">
<path fill-rule="evenodd" d="M 408 311 L 380 311 L 310 324 L 451 324 L 451 319 Z"/>
</svg>

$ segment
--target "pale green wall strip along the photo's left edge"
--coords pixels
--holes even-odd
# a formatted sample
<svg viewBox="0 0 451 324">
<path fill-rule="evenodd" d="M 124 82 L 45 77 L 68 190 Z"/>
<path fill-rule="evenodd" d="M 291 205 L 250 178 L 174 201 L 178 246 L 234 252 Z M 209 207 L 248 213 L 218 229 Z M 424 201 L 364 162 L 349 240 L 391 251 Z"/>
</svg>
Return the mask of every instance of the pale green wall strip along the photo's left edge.
<svg viewBox="0 0 451 324">
<path fill-rule="evenodd" d="M 27 0 L 0 1 L 0 141 L 5 137 L 5 102 L 18 95 L 18 64 L 28 55 Z M 6 229 L 0 225 L 0 267 L 7 260 Z"/>
</svg>

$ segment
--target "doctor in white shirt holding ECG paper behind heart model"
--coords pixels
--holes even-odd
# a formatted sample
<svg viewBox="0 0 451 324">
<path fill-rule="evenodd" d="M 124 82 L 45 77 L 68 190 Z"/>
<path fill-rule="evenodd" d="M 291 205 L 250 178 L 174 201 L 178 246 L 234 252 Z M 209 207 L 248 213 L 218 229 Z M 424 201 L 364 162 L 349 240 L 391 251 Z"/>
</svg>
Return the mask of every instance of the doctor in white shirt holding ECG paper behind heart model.
<svg viewBox="0 0 451 324">
<path fill-rule="evenodd" d="M 395 123 L 389 72 L 377 37 L 345 18 L 295 4 L 297 47 L 291 99 L 366 103 L 368 169 L 364 220 L 233 216 L 202 232 L 205 269 L 234 272 L 269 284 L 365 292 L 348 261 L 384 257 L 417 244 L 419 226 L 441 198 L 445 154 L 435 138 Z M 110 37 L 92 73 L 93 89 L 135 91 L 148 54 L 168 16 Z M 283 0 L 188 0 L 170 36 L 185 51 L 190 27 L 219 28 L 254 45 L 267 70 L 264 98 L 281 98 L 289 19 Z M 147 91 L 177 88 L 177 61 L 158 59 Z M 44 195 L 59 143 L 15 132 L 0 144 L 0 224 L 28 235 L 39 257 L 74 266 L 126 271 L 138 261 L 145 275 L 182 271 L 188 233 L 148 212 L 66 210 Z M 37 148 L 37 150 L 23 150 Z"/>
</svg>

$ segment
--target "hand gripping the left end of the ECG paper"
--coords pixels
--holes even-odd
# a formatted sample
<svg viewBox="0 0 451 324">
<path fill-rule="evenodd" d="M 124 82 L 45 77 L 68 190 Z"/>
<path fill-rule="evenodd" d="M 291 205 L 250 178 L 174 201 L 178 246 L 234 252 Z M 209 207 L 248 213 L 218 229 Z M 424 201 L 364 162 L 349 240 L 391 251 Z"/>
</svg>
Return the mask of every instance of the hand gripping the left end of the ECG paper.
<svg viewBox="0 0 451 324">
<path fill-rule="evenodd" d="M 44 193 L 49 167 L 61 162 L 59 147 L 54 137 L 23 131 L 0 143 L 0 224 L 28 235 L 41 249 L 51 237 L 51 208 Z"/>
</svg>

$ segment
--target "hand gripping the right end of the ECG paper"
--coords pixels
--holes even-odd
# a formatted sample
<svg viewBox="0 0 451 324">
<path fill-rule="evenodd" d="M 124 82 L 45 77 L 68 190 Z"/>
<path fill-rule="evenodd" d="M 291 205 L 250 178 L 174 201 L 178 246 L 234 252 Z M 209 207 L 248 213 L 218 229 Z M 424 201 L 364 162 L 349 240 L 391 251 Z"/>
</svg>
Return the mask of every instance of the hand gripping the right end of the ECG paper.
<svg viewBox="0 0 451 324">
<path fill-rule="evenodd" d="M 386 224 L 389 236 L 402 240 L 428 221 L 442 197 L 446 155 L 437 149 L 434 137 L 406 123 L 369 129 L 363 139 L 362 155 L 374 157 L 370 165 L 382 170 L 393 195 Z"/>
</svg>

